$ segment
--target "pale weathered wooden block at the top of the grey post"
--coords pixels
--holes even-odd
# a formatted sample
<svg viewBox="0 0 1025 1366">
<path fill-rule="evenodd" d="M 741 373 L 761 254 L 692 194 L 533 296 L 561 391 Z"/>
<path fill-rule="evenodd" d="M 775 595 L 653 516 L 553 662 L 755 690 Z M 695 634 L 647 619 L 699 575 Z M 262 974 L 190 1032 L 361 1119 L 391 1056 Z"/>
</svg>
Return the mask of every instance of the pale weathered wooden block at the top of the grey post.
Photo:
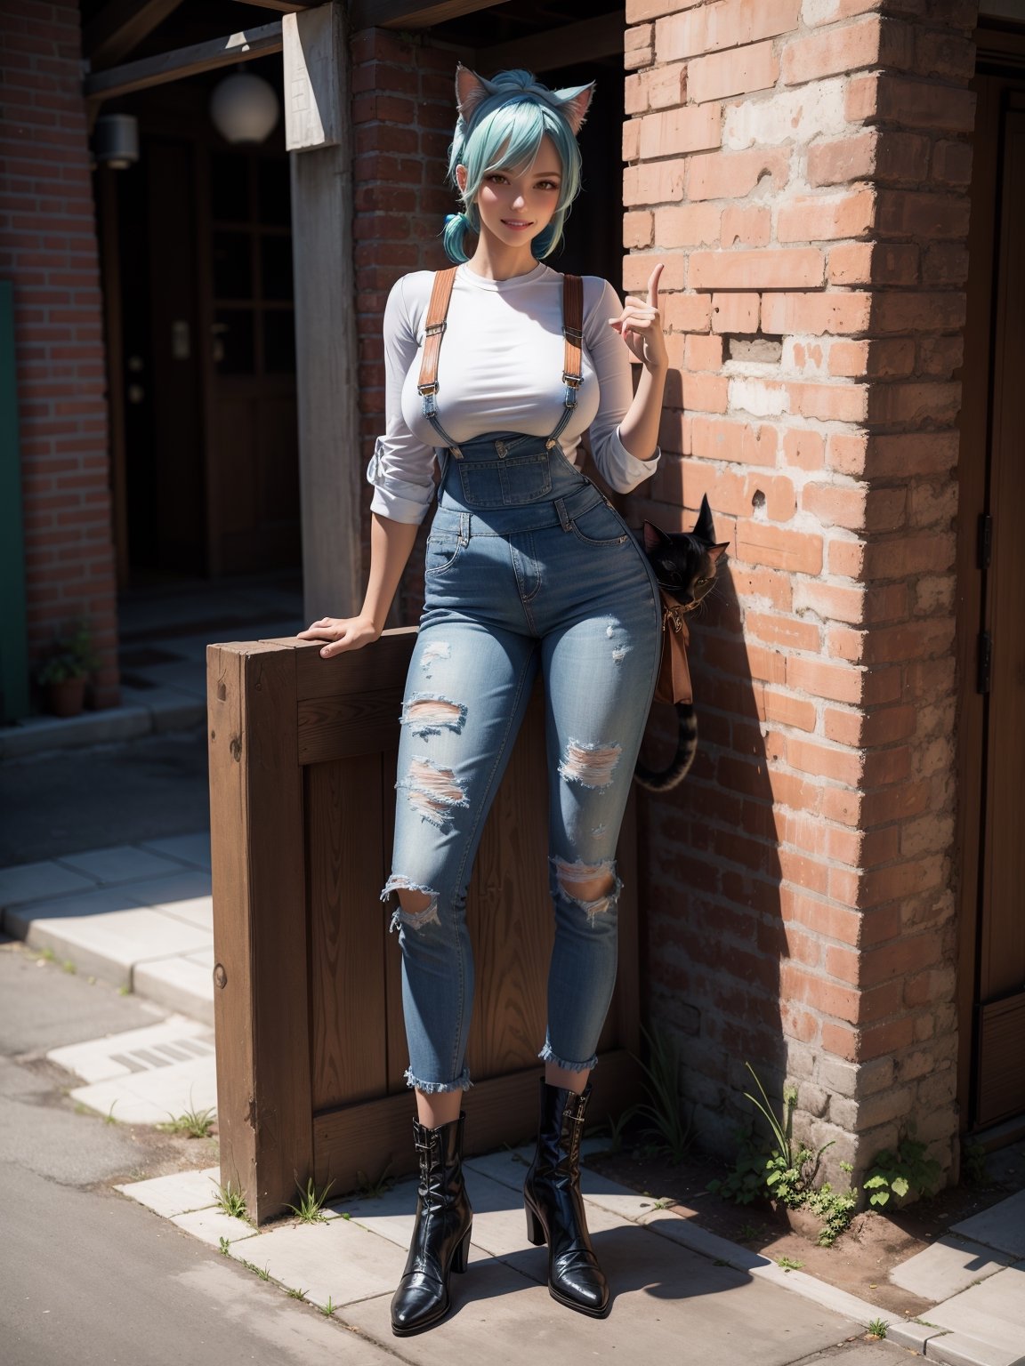
<svg viewBox="0 0 1025 1366">
<path fill-rule="evenodd" d="M 344 60 L 343 23 L 339 4 L 287 14 L 282 20 L 284 145 L 288 152 L 335 146 L 344 137 L 338 98 L 344 82 L 339 71 L 339 61 Z"/>
</svg>

